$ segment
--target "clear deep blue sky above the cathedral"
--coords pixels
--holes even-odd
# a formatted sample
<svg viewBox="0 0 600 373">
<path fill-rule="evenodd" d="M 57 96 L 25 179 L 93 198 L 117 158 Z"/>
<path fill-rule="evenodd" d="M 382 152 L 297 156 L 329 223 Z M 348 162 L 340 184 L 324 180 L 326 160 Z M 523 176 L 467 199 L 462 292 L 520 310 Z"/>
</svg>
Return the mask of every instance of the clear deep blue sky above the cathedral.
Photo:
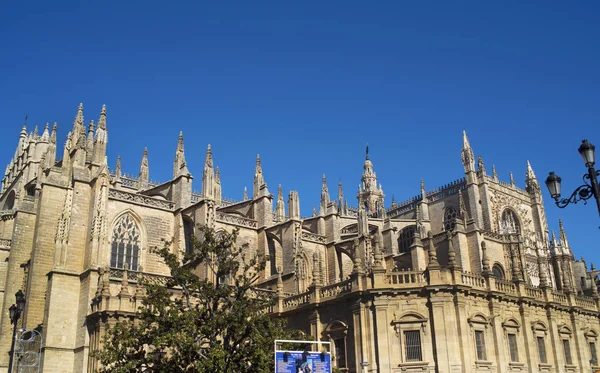
<svg viewBox="0 0 600 373">
<path fill-rule="evenodd" d="M 218 3 L 218 4 L 217 4 Z M 342 180 L 356 195 L 369 143 L 387 204 L 463 176 L 467 130 L 488 172 L 529 159 L 565 191 L 585 172 L 582 138 L 600 153 L 600 4 L 548 1 L 25 1 L 0 11 L 0 160 L 28 124 L 86 123 L 108 107 L 108 157 L 137 174 L 172 174 L 177 136 L 200 189 L 207 144 L 224 195 L 252 189 L 256 153 L 275 193 L 318 204 Z M 60 150 L 59 150 L 60 153 Z M 600 158 L 600 154 L 599 154 Z M 4 170 L 4 169 L 2 169 Z M 594 205 L 558 209 L 576 257 L 600 264 Z"/>
</svg>

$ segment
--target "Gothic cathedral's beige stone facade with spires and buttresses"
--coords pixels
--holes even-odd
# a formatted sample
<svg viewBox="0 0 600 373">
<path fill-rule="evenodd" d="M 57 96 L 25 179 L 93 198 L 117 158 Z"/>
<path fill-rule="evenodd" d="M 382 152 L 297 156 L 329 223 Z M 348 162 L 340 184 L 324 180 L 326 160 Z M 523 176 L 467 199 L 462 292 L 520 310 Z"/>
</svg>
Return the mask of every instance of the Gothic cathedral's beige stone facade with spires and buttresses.
<svg viewBox="0 0 600 373">
<path fill-rule="evenodd" d="M 210 145 L 202 191 L 193 192 L 183 136 L 173 179 L 109 170 L 106 108 L 86 127 L 80 105 L 57 155 L 56 125 L 20 133 L 0 190 L 0 372 L 12 326 L 43 335 L 45 372 L 92 372 L 89 352 L 107 326 L 135 311 L 138 279 L 164 282 L 151 248 L 182 255 L 200 225 L 239 229 L 241 244 L 268 255 L 260 287 L 269 311 L 332 342 L 334 364 L 360 372 L 589 372 L 600 331 L 597 271 L 575 261 L 562 222 L 548 230 L 529 164 L 526 189 L 486 173 L 463 134 L 465 175 L 385 207 L 368 151 L 358 207 L 330 198 L 302 217 L 298 193 L 273 196 L 256 160 L 253 194 L 224 199 Z M 59 159 L 60 158 L 60 159 Z M 357 175 L 358 178 L 358 175 Z"/>
</svg>

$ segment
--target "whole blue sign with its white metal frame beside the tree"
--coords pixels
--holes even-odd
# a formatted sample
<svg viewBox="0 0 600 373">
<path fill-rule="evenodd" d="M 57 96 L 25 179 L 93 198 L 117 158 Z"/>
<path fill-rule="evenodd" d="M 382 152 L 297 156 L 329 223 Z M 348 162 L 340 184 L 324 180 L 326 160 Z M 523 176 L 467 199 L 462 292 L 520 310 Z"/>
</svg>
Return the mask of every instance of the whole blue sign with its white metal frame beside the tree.
<svg viewBox="0 0 600 373">
<path fill-rule="evenodd" d="M 281 349 L 283 343 L 317 345 L 317 351 Z M 275 341 L 275 373 L 331 373 L 331 343 L 320 341 Z"/>
</svg>

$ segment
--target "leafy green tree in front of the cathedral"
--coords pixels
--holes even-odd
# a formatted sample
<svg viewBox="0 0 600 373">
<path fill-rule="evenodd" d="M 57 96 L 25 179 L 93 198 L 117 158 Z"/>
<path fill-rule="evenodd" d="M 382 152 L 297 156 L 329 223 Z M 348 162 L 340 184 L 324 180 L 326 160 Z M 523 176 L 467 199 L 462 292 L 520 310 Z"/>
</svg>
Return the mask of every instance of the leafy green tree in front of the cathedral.
<svg viewBox="0 0 600 373">
<path fill-rule="evenodd" d="M 263 312 L 273 296 L 255 289 L 267 258 L 237 245 L 238 232 L 202 228 L 183 265 L 166 243 L 166 286 L 146 284 L 135 318 L 120 319 L 95 352 L 100 372 L 271 372 L 273 342 L 292 339 Z M 200 278 L 204 268 L 215 280 Z M 203 276 L 207 277 L 207 276 Z"/>
</svg>

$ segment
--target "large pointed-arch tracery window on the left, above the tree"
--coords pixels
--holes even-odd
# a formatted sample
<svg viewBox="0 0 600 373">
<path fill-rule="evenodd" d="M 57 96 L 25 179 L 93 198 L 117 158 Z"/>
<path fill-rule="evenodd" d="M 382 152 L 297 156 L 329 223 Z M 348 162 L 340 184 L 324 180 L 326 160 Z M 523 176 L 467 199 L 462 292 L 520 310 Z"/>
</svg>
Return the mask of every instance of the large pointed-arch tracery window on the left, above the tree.
<svg viewBox="0 0 600 373">
<path fill-rule="evenodd" d="M 110 266 L 137 271 L 140 257 L 140 228 L 129 214 L 119 218 L 112 234 Z"/>
</svg>

